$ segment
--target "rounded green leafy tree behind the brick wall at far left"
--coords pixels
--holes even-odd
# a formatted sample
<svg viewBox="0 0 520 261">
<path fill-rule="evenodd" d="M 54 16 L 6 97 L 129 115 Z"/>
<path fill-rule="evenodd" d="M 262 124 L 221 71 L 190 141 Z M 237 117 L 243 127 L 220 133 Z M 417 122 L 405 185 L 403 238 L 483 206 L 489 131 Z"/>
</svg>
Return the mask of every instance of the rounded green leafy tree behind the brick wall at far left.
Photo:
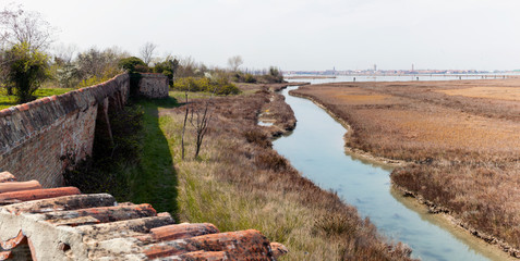
<svg viewBox="0 0 520 261">
<path fill-rule="evenodd" d="M 49 77 L 49 58 L 40 51 L 32 50 L 26 42 L 13 45 L 5 57 L 10 63 L 8 80 L 14 87 L 17 101 L 34 100 L 33 94 Z"/>
</svg>

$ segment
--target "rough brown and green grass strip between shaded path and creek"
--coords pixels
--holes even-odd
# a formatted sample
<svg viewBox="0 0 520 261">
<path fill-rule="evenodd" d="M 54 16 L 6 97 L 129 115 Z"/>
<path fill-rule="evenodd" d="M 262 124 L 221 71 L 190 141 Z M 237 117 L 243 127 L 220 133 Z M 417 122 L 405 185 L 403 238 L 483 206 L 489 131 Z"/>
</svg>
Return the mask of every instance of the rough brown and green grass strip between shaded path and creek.
<svg viewBox="0 0 520 261">
<path fill-rule="evenodd" d="M 214 117 L 199 160 L 180 161 L 183 109 L 160 112 L 178 169 L 181 222 L 259 229 L 289 248 L 282 260 L 410 260 L 407 247 L 386 241 L 355 208 L 302 177 L 271 149 L 270 137 L 290 128 L 282 123 L 295 122 L 279 95 L 259 88 L 210 102 Z M 278 128 L 257 125 L 266 108 Z M 188 135 L 188 154 L 193 139 Z"/>
</svg>

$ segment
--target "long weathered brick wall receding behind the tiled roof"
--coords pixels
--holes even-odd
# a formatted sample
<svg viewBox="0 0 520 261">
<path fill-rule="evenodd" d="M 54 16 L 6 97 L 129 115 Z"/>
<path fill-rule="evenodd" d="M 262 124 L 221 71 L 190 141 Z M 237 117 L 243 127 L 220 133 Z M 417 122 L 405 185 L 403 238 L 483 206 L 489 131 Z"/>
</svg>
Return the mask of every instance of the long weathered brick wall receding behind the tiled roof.
<svg viewBox="0 0 520 261">
<path fill-rule="evenodd" d="M 68 154 L 92 153 L 98 109 L 121 107 L 129 97 L 129 75 L 0 111 L 0 171 L 44 187 L 62 185 Z M 108 104 L 108 103 L 112 104 Z"/>
</svg>

